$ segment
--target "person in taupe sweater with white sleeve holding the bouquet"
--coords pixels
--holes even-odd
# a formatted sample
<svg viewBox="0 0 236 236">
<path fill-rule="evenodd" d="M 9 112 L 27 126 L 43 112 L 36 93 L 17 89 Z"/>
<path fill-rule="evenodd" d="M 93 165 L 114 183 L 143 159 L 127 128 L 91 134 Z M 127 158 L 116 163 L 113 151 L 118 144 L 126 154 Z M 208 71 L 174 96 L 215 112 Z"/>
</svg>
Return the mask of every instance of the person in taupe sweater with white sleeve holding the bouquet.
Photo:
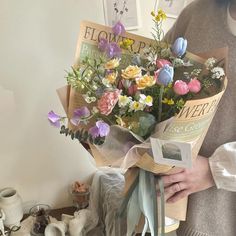
<svg viewBox="0 0 236 236">
<path fill-rule="evenodd" d="M 236 235 L 236 0 L 196 0 L 167 33 L 173 43 L 188 40 L 188 51 L 228 47 L 228 87 L 191 169 L 163 176 L 167 202 L 189 196 L 187 220 L 178 236 Z M 204 190 L 204 191 L 203 191 Z"/>
</svg>

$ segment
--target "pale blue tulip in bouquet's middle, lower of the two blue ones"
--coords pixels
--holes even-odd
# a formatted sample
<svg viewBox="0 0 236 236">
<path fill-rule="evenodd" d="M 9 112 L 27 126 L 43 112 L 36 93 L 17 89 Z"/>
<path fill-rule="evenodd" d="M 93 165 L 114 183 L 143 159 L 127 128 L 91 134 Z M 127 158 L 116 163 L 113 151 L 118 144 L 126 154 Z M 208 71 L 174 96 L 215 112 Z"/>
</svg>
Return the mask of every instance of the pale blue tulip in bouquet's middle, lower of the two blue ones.
<svg viewBox="0 0 236 236">
<path fill-rule="evenodd" d="M 172 66 L 166 64 L 161 69 L 156 71 L 155 76 L 158 84 L 167 86 L 173 81 L 174 69 Z"/>
</svg>

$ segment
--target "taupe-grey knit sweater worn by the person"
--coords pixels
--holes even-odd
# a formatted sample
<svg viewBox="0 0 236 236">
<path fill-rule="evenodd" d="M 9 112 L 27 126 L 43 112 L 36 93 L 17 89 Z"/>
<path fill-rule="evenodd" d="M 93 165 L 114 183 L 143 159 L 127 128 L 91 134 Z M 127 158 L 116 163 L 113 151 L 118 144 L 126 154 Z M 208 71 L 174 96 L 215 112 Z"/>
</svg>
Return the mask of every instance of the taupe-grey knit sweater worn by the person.
<svg viewBox="0 0 236 236">
<path fill-rule="evenodd" d="M 167 39 L 188 40 L 188 51 L 204 52 L 229 47 L 228 88 L 210 126 L 200 154 L 212 155 L 220 145 L 236 141 L 236 37 L 227 26 L 226 6 L 215 0 L 196 0 L 180 15 Z M 236 236 L 236 192 L 212 187 L 189 197 L 187 220 L 178 236 Z"/>
</svg>

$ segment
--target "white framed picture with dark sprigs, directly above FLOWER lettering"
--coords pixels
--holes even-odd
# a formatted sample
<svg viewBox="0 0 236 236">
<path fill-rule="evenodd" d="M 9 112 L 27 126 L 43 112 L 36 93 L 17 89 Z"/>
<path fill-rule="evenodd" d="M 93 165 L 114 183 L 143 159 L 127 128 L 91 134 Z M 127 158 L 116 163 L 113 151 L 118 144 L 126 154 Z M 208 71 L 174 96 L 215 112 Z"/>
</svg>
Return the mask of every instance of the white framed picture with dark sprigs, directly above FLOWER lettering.
<svg viewBox="0 0 236 236">
<path fill-rule="evenodd" d="M 126 30 L 141 27 L 138 0 L 103 0 L 103 8 L 106 25 L 113 26 L 120 20 Z"/>
</svg>

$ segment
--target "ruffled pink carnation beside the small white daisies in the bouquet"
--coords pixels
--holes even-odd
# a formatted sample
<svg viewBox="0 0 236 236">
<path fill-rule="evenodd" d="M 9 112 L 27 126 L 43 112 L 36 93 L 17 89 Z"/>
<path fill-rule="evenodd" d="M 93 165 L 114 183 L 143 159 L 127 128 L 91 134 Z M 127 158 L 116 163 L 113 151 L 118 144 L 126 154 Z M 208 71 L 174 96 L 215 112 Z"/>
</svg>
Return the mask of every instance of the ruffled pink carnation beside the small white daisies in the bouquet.
<svg viewBox="0 0 236 236">
<path fill-rule="evenodd" d="M 118 102 L 120 91 L 107 91 L 104 92 L 102 97 L 98 100 L 98 110 L 103 115 L 109 115 L 116 103 Z"/>
</svg>

